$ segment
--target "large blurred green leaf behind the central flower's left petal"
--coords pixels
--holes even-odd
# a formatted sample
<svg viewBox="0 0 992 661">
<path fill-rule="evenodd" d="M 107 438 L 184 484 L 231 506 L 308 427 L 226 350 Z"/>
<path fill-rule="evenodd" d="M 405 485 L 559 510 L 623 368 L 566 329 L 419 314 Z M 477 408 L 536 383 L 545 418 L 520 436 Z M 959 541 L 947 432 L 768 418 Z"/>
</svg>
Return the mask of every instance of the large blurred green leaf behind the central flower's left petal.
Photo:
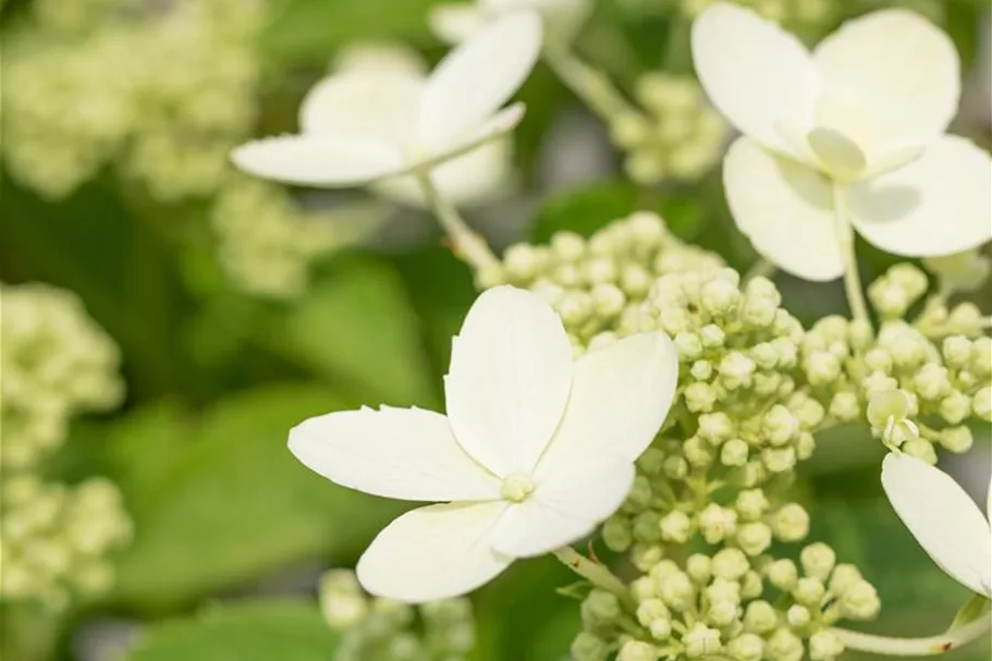
<svg viewBox="0 0 992 661">
<path fill-rule="evenodd" d="M 399 505 L 317 476 L 285 440 L 304 418 L 353 405 L 295 384 L 232 396 L 201 416 L 142 411 L 114 427 L 105 463 L 135 539 L 118 559 L 111 599 L 168 611 L 301 560 L 352 560 Z"/>
</svg>

